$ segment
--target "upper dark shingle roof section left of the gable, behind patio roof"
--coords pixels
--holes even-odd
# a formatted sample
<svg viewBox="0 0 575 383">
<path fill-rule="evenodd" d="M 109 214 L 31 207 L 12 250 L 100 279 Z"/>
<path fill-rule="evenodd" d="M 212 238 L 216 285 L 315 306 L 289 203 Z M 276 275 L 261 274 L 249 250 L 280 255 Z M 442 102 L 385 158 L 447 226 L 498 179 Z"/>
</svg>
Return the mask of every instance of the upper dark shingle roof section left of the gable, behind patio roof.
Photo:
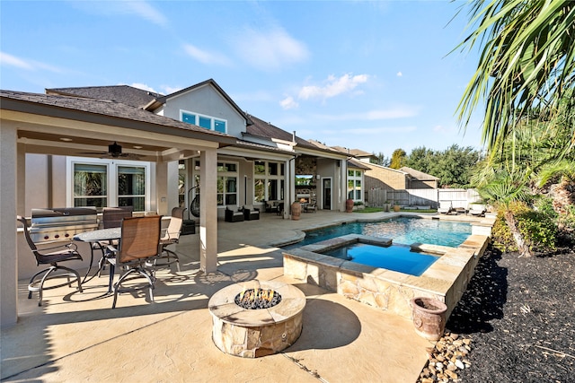
<svg viewBox="0 0 575 383">
<path fill-rule="evenodd" d="M 144 109 L 147 104 L 160 96 L 157 93 L 144 91 L 129 85 L 52 88 L 46 89 L 46 93 L 61 96 L 83 97 L 95 100 L 117 101 L 139 109 Z"/>
</svg>

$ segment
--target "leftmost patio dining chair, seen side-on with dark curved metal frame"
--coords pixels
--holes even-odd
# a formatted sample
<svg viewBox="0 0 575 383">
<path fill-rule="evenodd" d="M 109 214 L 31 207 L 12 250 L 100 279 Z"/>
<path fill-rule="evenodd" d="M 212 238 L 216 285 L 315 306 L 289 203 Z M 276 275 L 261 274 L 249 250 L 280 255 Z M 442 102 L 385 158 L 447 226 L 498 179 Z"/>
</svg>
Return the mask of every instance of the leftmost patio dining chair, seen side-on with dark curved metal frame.
<svg viewBox="0 0 575 383">
<path fill-rule="evenodd" d="M 82 256 L 76 250 L 75 243 L 68 241 L 67 243 L 60 244 L 51 248 L 39 249 L 36 247 L 30 236 L 30 230 L 28 228 L 28 222 L 26 219 L 20 215 L 16 217 L 16 220 L 22 223 L 24 227 L 24 237 L 28 246 L 31 248 L 34 257 L 36 257 L 36 265 L 50 265 L 49 268 L 41 270 L 40 272 L 34 274 L 30 283 L 28 283 L 28 299 L 32 297 L 32 292 L 38 292 L 38 306 L 42 305 L 42 292 L 44 290 L 55 289 L 57 287 L 62 287 L 68 285 L 72 287 L 72 283 L 78 283 L 78 291 L 82 292 L 82 283 L 80 282 L 80 274 L 74 269 L 69 267 L 58 265 L 59 262 L 72 261 L 72 260 L 82 260 Z M 45 253 L 45 251 L 49 251 Z M 65 274 L 52 274 L 57 272 L 57 270 L 65 270 Z M 41 277 L 40 277 L 41 275 Z M 60 283 L 56 286 L 44 287 L 44 283 L 49 279 L 66 277 L 66 283 Z M 70 277 L 75 279 L 70 280 Z"/>
</svg>

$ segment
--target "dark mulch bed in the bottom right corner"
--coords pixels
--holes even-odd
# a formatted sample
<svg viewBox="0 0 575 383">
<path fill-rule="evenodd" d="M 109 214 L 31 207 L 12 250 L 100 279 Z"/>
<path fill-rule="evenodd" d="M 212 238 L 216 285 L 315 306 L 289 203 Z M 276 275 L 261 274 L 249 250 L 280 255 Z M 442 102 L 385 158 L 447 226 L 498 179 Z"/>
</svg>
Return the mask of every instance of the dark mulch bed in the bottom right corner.
<svg viewBox="0 0 575 383">
<path fill-rule="evenodd" d="M 447 321 L 471 339 L 463 382 L 575 382 L 575 252 L 489 248 Z"/>
</svg>

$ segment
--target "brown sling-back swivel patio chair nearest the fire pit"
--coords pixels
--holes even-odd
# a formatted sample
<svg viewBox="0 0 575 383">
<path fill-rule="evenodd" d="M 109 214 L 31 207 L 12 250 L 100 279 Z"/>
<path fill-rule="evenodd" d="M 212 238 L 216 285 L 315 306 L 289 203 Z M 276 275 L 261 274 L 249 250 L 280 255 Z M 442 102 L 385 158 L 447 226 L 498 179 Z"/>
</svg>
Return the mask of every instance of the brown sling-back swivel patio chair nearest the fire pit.
<svg viewBox="0 0 575 383">
<path fill-rule="evenodd" d="M 122 236 L 119 248 L 108 246 L 107 261 L 111 264 L 110 273 L 115 268 L 126 270 L 113 285 L 114 300 L 111 308 L 116 308 L 118 293 L 122 283 L 131 274 L 146 278 L 150 292 L 150 301 L 154 301 L 155 257 L 160 250 L 160 233 L 162 231 L 161 215 L 146 215 L 145 217 L 124 218 L 121 224 Z M 113 267 L 112 267 L 113 266 Z"/>
</svg>

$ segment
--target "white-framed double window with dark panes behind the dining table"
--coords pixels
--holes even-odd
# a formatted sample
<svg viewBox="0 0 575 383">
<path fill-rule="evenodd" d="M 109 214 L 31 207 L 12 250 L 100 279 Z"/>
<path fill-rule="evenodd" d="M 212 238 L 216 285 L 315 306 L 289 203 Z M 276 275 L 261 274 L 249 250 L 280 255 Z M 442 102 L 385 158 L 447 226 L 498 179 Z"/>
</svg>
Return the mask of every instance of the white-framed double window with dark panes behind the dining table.
<svg viewBox="0 0 575 383">
<path fill-rule="evenodd" d="M 68 157 L 68 203 L 73 206 L 134 206 L 145 212 L 150 205 L 150 165 L 146 162 L 82 160 Z"/>
</svg>

